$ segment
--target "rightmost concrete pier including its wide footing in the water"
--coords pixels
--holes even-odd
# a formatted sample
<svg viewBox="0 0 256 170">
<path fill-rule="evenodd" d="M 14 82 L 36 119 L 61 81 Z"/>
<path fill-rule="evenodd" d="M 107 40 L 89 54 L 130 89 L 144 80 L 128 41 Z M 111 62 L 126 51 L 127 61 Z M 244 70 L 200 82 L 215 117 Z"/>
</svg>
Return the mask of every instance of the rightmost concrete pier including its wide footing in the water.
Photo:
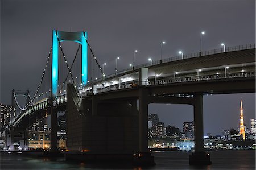
<svg viewBox="0 0 256 170">
<path fill-rule="evenodd" d="M 189 155 L 190 165 L 210 165 L 210 155 L 204 152 L 203 95 L 194 97 L 195 152 Z"/>
</svg>

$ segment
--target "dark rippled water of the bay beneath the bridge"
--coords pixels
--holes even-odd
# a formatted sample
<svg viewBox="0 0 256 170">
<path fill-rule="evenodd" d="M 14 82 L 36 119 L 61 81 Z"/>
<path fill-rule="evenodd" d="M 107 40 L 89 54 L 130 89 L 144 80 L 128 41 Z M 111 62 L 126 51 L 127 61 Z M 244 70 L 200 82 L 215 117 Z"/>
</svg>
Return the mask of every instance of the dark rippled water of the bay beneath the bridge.
<svg viewBox="0 0 256 170">
<path fill-rule="evenodd" d="M 131 163 L 87 163 L 68 162 L 62 159 L 36 159 L 23 154 L 3 154 L 1 152 L 0 169 L 255 169 L 255 151 L 210 151 L 212 165 L 204 167 L 189 166 L 191 152 L 154 152 L 154 167 L 134 167 Z M 18 160 L 18 161 L 17 161 Z"/>
</svg>

